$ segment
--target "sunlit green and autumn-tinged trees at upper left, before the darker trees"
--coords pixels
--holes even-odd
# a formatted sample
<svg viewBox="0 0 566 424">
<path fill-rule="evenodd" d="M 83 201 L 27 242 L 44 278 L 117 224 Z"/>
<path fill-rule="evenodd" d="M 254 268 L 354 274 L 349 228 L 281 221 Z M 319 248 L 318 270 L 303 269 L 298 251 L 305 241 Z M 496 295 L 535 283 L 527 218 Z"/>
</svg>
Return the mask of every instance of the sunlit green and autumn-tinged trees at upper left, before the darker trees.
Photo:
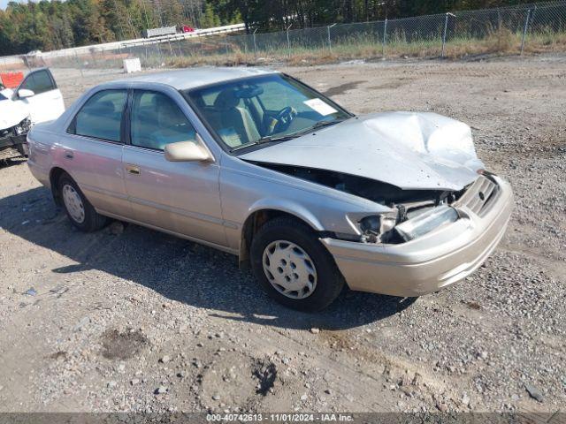
<svg viewBox="0 0 566 424">
<path fill-rule="evenodd" d="M 238 11 L 220 16 L 218 5 L 222 1 L 204 7 L 200 0 L 11 2 L 0 10 L 0 56 L 138 38 L 146 28 L 241 22 Z"/>
</svg>

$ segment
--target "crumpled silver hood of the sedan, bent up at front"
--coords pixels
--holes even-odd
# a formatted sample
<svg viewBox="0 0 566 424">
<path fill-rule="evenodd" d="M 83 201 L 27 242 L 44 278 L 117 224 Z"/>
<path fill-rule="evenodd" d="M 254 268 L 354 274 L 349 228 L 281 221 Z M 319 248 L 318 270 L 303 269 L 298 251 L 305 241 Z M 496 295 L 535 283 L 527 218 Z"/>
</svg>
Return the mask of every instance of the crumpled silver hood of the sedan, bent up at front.
<svg viewBox="0 0 566 424">
<path fill-rule="evenodd" d="M 484 168 L 470 126 L 435 113 L 413 112 L 351 118 L 240 157 L 333 170 L 407 190 L 459 191 Z"/>
</svg>

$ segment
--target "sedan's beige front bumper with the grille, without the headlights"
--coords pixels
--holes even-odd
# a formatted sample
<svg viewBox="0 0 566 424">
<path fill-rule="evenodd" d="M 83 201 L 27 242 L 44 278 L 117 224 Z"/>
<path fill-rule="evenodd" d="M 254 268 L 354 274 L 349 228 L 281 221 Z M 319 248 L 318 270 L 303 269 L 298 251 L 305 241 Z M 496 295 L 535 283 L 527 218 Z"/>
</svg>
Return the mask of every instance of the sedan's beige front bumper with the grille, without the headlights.
<svg viewBox="0 0 566 424">
<path fill-rule="evenodd" d="M 460 219 L 406 243 L 321 241 L 350 289 L 421 296 L 462 280 L 486 261 L 509 223 L 513 192 L 501 178 L 482 176 L 453 207 Z"/>
</svg>

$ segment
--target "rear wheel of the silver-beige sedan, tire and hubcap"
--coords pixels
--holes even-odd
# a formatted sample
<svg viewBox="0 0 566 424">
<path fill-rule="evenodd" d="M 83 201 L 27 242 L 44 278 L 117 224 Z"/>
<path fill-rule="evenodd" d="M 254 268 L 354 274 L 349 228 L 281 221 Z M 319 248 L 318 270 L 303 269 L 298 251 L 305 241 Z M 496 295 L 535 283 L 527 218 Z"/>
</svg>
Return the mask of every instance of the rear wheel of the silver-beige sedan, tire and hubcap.
<svg viewBox="0 0 566 424">
<path fill-rule="evenodd" d="M 57 189 L 61 196 L 61 203 L 63 204 L 63 208 L 65 208 L 65 213 L 77 229 L 84 232 L 97 231 L 108 223 L 108 218 L 96 212 L 95 208 L 93 208 L 69 174 L 64 173 L 61 175 Z M 76 201 L 76 203 L 74 203 L 75 207 L 73 207 L 73 203 L 70 203 L 69 200 L 65 200 L 65 192 L 71 193 L 71 199 L 73 199 L 73 196 L 76 194 L 77 197 L 73 199 Z M 67 199 L 69 199 L 69 197 Z M 80 208 L 82 208 L 83 212 L 82 219 L 78 212 Z"/>
</svg>

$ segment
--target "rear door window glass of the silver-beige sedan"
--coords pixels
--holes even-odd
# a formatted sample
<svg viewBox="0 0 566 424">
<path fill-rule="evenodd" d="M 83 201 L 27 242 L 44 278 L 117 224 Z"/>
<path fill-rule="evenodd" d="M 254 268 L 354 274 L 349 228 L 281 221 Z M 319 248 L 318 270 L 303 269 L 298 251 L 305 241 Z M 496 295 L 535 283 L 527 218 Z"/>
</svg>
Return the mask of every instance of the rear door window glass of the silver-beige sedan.
<svg viewBox="0 0 566 424">
<path fill-rule="evenodd" d="M 68 133 L 119 142 L 126 99 L 126 90 L 99 91 L 75 115 Z"/>
</svg>

